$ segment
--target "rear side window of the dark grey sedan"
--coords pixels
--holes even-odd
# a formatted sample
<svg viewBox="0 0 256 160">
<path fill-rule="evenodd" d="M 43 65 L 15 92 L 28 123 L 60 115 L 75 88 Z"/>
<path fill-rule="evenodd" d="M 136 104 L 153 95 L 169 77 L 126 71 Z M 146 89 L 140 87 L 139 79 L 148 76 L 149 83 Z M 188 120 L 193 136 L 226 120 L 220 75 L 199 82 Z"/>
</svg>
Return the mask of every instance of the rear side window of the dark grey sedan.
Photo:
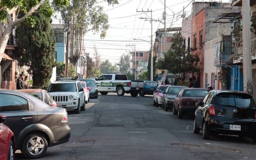
<svg viewBox="0 0 256 160">
<path fill-rule="evenodd" d="M 15 95 L 0 94 L 0 112 L 27 111 L 27 100 Z"/>
</svg>

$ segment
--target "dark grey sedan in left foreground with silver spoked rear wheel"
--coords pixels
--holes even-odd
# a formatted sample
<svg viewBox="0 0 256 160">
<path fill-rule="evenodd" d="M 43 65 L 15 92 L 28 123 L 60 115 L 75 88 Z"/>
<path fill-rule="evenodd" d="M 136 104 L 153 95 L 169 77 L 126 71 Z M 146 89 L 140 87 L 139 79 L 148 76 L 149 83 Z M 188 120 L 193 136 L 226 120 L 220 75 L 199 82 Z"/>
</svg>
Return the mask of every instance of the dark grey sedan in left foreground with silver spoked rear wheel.
<svg viewBox="0 0 256 160">
<path fill-rule="evenodd" d="M 70 138 L 68 114 L 41 100 L 18 91 L 0 90 L 0 114 L 15 135 L 15 149 L 28 159 L 39 158 L 48 147 L 66 143 Z"/>
</svg>

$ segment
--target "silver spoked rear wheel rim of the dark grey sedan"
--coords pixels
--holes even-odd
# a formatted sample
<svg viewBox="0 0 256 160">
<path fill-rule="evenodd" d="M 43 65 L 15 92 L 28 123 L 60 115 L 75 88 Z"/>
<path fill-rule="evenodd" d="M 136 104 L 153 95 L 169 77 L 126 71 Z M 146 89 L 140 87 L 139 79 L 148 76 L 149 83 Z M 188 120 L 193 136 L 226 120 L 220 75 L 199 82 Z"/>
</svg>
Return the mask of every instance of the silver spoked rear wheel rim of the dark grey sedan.
<svg viewBox="0 0 256 160">
<path fill-rule="evenodd" d="M 29 139 L 27 142 L 27 151 L 31 155 L 39 155 L 41 154 L 45 149 L 45 142 L 42 138 L 35 136 Z"/>
</svg>

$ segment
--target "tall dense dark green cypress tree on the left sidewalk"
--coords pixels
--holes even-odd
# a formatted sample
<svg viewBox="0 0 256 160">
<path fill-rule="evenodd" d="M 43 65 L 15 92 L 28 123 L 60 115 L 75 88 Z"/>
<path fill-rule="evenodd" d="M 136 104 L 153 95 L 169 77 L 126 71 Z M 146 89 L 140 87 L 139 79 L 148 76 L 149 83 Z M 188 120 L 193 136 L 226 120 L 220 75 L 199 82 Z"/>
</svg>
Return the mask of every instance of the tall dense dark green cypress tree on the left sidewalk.
<svg viewBox="0 0 256 160">
<path fill-rule="evenodd" d="M 46 8 L 46 6 L 50 6 L 48 0 L 41 7 Z M 33 86 L 41 88 L 50 82 L 53 67 L 56 65 L 53 56 L 55 52 L 54 32 L 50 24 L 51 18 L 40 12 L 34 13 L 33 17 L 34 27 L 23 23 L 16 30 L 19 39 L 18 50 L 22 56 L 19 65 L 29 66 L 28 72 L 32 73 Z"/>
</svg>

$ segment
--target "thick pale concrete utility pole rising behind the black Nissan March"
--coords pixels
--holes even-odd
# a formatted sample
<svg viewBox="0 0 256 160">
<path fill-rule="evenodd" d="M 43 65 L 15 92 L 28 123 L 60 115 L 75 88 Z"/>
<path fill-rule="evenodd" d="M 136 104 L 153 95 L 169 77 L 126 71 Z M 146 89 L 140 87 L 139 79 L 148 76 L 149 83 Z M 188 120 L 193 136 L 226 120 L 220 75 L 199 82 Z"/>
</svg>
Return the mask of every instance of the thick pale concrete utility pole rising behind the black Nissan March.
<svg viewBox="0 0 256 160">
<path fill-rule="evenodd" d="M 252 88 L 252 57 L 250 29 L 250 1 L 242 0 L 243 9 L 243 74 L 244 91 L 253 96 Z"/>
</svg>

